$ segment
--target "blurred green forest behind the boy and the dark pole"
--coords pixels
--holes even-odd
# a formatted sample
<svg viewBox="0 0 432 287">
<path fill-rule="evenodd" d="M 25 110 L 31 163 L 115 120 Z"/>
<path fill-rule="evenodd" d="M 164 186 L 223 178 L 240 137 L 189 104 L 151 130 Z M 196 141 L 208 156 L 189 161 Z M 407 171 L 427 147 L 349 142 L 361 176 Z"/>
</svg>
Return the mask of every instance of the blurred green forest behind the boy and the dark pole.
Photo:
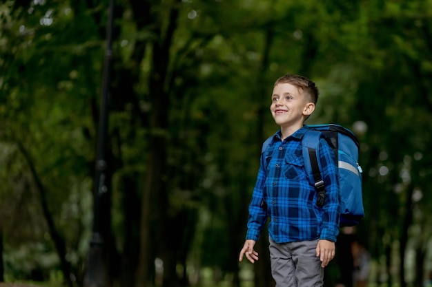
<svg viewBox="0 0 432 287">
<path fill-rule="evenodd" d="M 83 286 L 108 0 L 0 3 L 0 281 Z M 286 73 L 320 87 L 309 124 L 361 142 L 369 286 L 432 270 L 431 0 L 116 0 L 109 286 L 271 286 L 238 263 L 268 110 Z M 326 286 L 341 276 L 337 259 Z"/>
</svg>

